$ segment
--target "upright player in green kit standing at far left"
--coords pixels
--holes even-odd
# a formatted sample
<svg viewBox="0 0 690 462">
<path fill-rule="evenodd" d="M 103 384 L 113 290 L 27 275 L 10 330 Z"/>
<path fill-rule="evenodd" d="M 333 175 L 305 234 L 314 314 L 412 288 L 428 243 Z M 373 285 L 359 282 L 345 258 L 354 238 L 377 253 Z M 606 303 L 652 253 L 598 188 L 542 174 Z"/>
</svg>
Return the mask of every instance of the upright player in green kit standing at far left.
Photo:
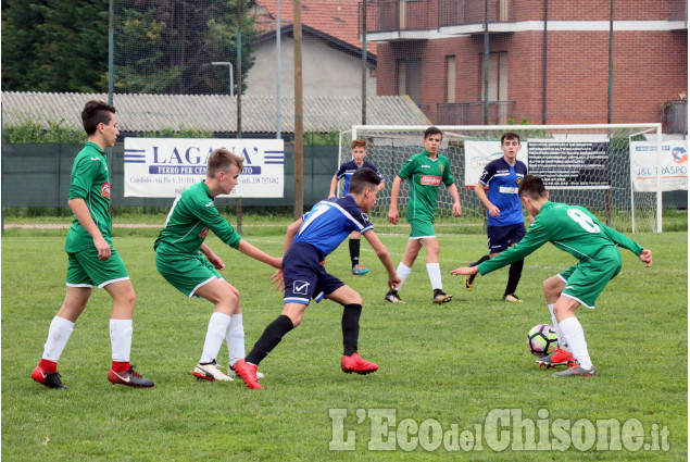
<svg viewBox="0 0 690 462">
<path fill-rule="evenodd" d="M 32 378 L 48 388 L 64 388 L 58 360 L 96 286 L 104 288 L 113 299 L 110 319 L 113 363 L 108 379 L 112 384 L 150 388 L 153 382 L 129 364 L 137 296 L 111 240 L 110 174 L 104 150 L 113 147 L 120 135 L 115 108 L 102 101 L 88 101 L 81 121 L 88 142 L 72 167 L 67 204 L 74 218 L 65 242 L 68 259 L 65 300 L 50 323 L 43 357 Z"/>
</svg>

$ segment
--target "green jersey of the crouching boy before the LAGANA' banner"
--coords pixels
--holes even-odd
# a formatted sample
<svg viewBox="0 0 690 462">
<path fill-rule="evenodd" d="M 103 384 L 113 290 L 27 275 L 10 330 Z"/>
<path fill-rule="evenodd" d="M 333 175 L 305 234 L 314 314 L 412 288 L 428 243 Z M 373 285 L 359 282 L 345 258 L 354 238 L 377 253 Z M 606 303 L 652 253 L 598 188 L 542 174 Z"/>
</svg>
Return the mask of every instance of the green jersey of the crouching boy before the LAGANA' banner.
<svg viewBox="0 0 690 462">
<path fill-rule="evenodd" d="M 239 247 L 240 235 L 221 216 L 209 187 L 201 182 L 175 199 L 153 249 L 159 253 L 196 255 L 209 229 L 228 246 Z"/>
</svg>

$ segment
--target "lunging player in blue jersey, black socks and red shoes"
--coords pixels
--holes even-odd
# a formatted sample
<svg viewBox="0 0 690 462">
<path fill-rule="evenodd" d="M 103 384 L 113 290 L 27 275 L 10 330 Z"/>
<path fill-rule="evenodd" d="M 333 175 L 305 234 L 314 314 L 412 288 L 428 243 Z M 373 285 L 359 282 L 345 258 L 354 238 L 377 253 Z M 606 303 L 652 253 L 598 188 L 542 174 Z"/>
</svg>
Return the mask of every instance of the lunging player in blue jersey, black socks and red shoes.
<svg viewBox="0 0 690 462">
<path fill-rule="evenodd" d="M 288 226 L 281 275 L 285 284 L 283 314 L 268 324 L 247 358 L 233 365 L 249 388 L 262 388 L 256 379 L 256 366 L 287 333 L 300 325 L 304 310 L 312 299 L 318 302 L 327 298 L 343 307 L 342 372 L 368 374 L 378 370 L 376 364 L 357 354 L 362 297 L 340 279 L 326 273 L 321 262 L 350 233 L 356 230 L 366 238 L 386 266 L 388 286 L 394 289 L 400 285 L 401 279 L 393 266 L 393 260 L 366 216 L 366 212 L 376 203 L 379 184 L 380 178 L 375 171 L 361 168 L 352 175 L 346 197 L 322 200 L 302 218 Z M 280 273 L 276 274 L 275 279 L 280 279 Z"/>
</svg>

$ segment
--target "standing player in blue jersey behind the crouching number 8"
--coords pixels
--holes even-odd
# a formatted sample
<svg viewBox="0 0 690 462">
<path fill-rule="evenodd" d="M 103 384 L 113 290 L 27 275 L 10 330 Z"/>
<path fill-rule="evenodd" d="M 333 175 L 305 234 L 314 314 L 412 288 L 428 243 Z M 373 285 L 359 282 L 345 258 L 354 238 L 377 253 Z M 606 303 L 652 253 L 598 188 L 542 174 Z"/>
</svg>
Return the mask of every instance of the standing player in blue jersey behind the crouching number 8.
<svg viewBox="0 0 690 462">
<path fill-rule="evenodd" d="M 527 165 L 517 160 L 517 153 L 520 149 L 519 135 L 511 132 L 504 133 L 501 136 L 503 157 L 487 164 L 475 187 L 475 193 L 487 208 L 489 254 L 471 263 L 469 266 L 492 259 L 525 237 L 525 218 L 523 217 L 523 205 L 517 197 L 517 188 L 527 174 Z M 485 191 L 485 188 L 488 188 L 488 192 Z M 515 290 L 523 274 L 524 262 L 520 259 L 511 264 L 503 301 L 522 302 L 515 295 Z M 474 275 L 465 277 L 467 291 L 472 291 L 474 282 Z"/>
</svg>

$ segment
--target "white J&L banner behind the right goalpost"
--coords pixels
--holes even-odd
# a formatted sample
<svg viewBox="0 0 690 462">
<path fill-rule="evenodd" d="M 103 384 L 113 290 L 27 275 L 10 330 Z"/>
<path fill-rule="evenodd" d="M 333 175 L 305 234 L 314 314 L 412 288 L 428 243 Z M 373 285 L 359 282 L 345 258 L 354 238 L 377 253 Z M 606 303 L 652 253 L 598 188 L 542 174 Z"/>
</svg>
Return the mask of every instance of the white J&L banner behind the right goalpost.
<svg viewBox="0 0 690 462">
<path fill-rule="evenodd" d="M 635 191 L 656 191 L 656 143 L 630 141 L 630 172 Z M 688 141 L 662 142 L 662 191 L 688 190 Z"/>
</svg>

